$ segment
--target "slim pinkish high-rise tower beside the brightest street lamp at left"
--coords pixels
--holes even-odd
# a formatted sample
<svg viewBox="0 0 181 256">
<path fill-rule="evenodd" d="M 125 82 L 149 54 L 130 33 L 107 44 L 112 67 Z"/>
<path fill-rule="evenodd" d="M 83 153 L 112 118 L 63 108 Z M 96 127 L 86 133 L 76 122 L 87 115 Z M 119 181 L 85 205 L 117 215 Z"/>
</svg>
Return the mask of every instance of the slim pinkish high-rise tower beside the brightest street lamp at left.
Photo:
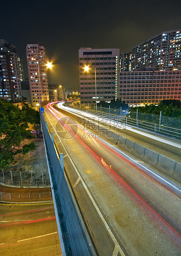
<svg viewBox="0 0 181 256">
<path fill-rule="evenodd" d="M 32 106 L 49 100 L 46 51 L 39 44 L 27 44 L 26 56 Z"/>
</svg>

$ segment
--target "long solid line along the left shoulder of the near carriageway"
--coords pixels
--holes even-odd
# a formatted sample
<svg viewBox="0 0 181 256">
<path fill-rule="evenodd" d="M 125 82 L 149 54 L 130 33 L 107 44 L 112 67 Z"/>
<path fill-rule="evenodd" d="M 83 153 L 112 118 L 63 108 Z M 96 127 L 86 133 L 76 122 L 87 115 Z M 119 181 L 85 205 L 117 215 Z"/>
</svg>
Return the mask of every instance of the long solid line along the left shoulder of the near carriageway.
<svg viewBox="0 0 181 256">
<path fill-rule="evenodd" d="M 45 114 L 46 114 L 46 112 L 45 112 Z M 47 116 L 47 118 L 49 119 L 49 116 L 48 116 L 47 114 L 46 114 L 46 116 Z M 50 119 L 49 119 L 49 120 L 50 120 Z M 51 123 L 51 121 L 50 121 L 50 123 Z M 116 237 L 114 236 L 114 234 L 112 233 L 111 229 L 109 228 L 109 225 L 107 224 L 106 220 L 104 219 L 104 216 L 102 215 L 100 209 L 98 208 L 97 204 L 95 203 L 95 200 L 93 199 L 93 197 L 92 197 L 92 195 L 90 194 L 90 192 L 89 192 L 89 190 L 88 190 L 86 184 L 84 183 L 83 178 L 81 178 L 81 175 L 80 175 L 78 169 L 76 168 L 76 166 L 74 165 L 74 162 L 72 161 L 72 159 L 71 159 L 71 157 L 70 157 L 70 154 L 68 154 L 68 152 L 67 152 L 65 146 L 63 145 L 63 142 L 60 140 L 60 137 L 59 137 L 59 135 L 57 134 L 55 128 L 53 128 L 53 129 L 54 129 L 54 131 L 55 131 L 55 133 L 56 133 L 56 135 L 57 135 L 57 137 L 58 137 L 58 139 L 59 139 L 59 141 L 60 141 L 60 144 L 62 145 L 63 149 L 65 150 L 65 153 L 67 154 L 67 157 L 69 158 L 69 160 L 70 160 L 70 162 L 71 162 L 71 164 L 72 164 L 74 170 L 76 171 L 76 173 L 77 173 L 79 179 L 81 180 L 81 183 L 82 183 L 82 185 L 84 186 L 84 189 L 86 190 L 86 192 L 87 192 L 87 194 L 88 194 L 88 197 L 90 198 L 90 201 L 92 201 L 92 204 L 93 204 L 93 206 L 95 207 L 95 209 L 96 209 L 96 211 L 97 211 L 97 214 L 99 215 L 100 219 L 102 220 L 102 223 L 104 224 L 104 227 L 106 228 L 106 230 L 107 230 L 107 232 L 109 233 L 109 235 L 110 235 L 112 241 L 114 242 L 114 246 L 116 246 L 116 248 L 118 249 L 118 251 L 119 251 L 119 253 L 121 254 L 121 256 L 125 256 L 123 250 L 121 249 L 120 245 L 118 244 L 118 241 L 116 240 Z"/>
</svg>

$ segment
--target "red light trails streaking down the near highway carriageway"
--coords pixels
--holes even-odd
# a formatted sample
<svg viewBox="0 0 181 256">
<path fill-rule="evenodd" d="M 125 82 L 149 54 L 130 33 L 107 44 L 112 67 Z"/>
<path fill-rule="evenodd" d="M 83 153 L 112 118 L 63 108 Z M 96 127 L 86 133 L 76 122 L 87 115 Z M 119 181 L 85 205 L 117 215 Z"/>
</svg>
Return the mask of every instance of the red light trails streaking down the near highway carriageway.
<svg viewBox="0 0 181 256">
<path fill-rule="evenodd" d="M 58 117 L 61 116 L 65 119 L 67 119 L 67 117 L 65 117 L 63 114 L 60 114 L 56 109 L 53 109 L 51 107 L 53 103 L 50 103 L 47 105 L 47 109 L 51 112 L 51 114 L 53 114 L 53 116 L 56 117 L 56 119 L 58 119 L 58 121 L 60 123 L 63 124 L 63 126 L 70 131 L 71 128 L 68 127 L 63 120 L 60 120 L 60 118 Z M 57 114 L 53 113 L 53 111 L 55 111 Z M 75 123 L 73 123 L 70 119 L 69 121 L 75 125 Z M 79 131 L 83 131 L 85 133 L 85 131 L 83 129 L 81 129 L 78 126 Z M 77 134 L 74 133 L 73 130 L 71 130 L 72 134 L 74 134 L 74 137 L 76 137 L 76 139 L 88 150 L 88 152 L 94 157 L 95 161 L 97 161 L 97 163 L 104 168 L 104 171 L 106 171 L 106 173 L 118 184 L 118 186 L 126 193 L 129 195 L 130 198 L 132 198 L 133 201 L 135 201 L 135 203 L 142 209 L 144 210 L 144 212 L 147 214 L 147 216 L 149 216 L 149 218 L 158 226 L 158 228 L 160 230 L 162 230 L 163 232 L 165 232 L 167 235 L 169 235 L 169 237 L 177 244 L 179 245 L 179 247 L 181 247 L 181 235 L 179 234 L 179 232 L 181 232 L 181 229 L 179 227 L 176 227 L 179 232 L 177 232 L 164 218 L 162 218 L 162 216 L 160 216 L 160 214 L 155 211 L 153 209 L 153 207 L 151 205 L 149 205 L 142 196 L 140 196 L 132 187 L 136 188 L 139 192 L 141 192 L 132 182 L 130 182 L 123 174 L 120 173 L 120 171 L 115 168 L 113 165 L 111 165 L 110 163 L 107 164 L 107 161 L 104 160 L 104 157 L 101 156 L 101 154 L 99 152 L 97 152 L 95 149 L 93 149 L 93 147 L 91 147 L 90 145 L 87 145 L 84 141 L 86 141 L 85 139 L 83 139 L 81 136 L 78 136 Z M 84 140 L 84 141 L 83 141 Z M 104 149 L 107 149 L 111 154 L 114 154 L 115 157 L 117 157 L 119 160 L 123 161 L 125 163 L 125 165 L 130 166 L 134 171 L 138 172 L 140 175 L 142 175 L 144 178 L 146 178 L 147 180 L 149 180 L 149 182 L 153 183 L 152 180 L 154 180 L 154 185 L 156 185 L 155 183 L 159 183 L 158 180 L 156 180 L 155 178 L 153 178 L 151 175 L 147 174 L 144 170 L 142 170 L 141 168 L 139 168 L 138 166 L 136 166 L 135 164 L 133 164 L 131 161 L 127 160 L 125 157 L 119 155 L 117 152 L 115 152 L 113 149 L 110 149 L 107 145 L 105 145 L 102 141 L 97 140 L 97 142 L 104 147 Z M 109 154 L 109 156 L 111 156 Z M 117 160 L 115 157 L 111 156 L 113 158 L 113 161 L 117 161 L 119 164 L 121 164 L 124 168 L 127 168 L 125 165 L 123 165 L 119 160 Z M 111 167 L 111 166 L 112 167 Z M 128 168 L 127 168 L 128 169 Z M 116 170 L 116 171 L 115 171 Z M 130 171 L 128 169 L 128 171 Z M 118 174 L 119 173 L 119 174 Z M 144 174 L 143 174 L 144 173 Z M 121 178 L 120 174 L 122 175 Z M 134 173 L 133 173 L 134 174 Z M 134 174 L 135 175 L 135 174 Z M 148 175 L 149 178 L 146 177 L 146 175 Z M 139 178 L 137 175 L 135 175 L 135 177 Z M 125 181 L 127 180 L 127 182 Z M 139 178 L 139 180 L 141 180 Z M 128 182 L 132 185 L 132 187 L 128 184 Z M 144 181 L 142 180 L 142 182 L 144 183 Z M 160 188 L 160 187 L 159 187 Z M 161 188 L 160 188 L 161 189 Z M 165 192 L 165 191 L 164 191 Z M 143 194 L 143 193 L 142 193 Z M 145 195 L 144 195 L 145 196 Z M 146 197 L 146 196 L 145 196 Z M 149 201 L 154 204 L 155 208 L 157 208 L 157 210 L 159 210 L 159 207 L 153 203 L 153 201 L 151 201 L 149 199 Z M 165 218 L 169 219 L 168 216 L 165 216 Z M 169 219 L 170 220 L 170 219 Z M 177 226 L 176 223 L 173 223 L 173 226 Z"/>
</svg>

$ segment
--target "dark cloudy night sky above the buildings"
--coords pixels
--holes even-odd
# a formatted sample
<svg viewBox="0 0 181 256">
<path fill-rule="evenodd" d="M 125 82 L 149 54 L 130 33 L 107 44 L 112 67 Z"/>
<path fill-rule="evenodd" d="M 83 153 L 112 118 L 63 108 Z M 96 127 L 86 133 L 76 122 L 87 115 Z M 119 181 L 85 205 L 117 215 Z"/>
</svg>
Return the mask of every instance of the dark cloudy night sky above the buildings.
<svg viewBox="0 0 181 256">
<path fill-rule="evenodd" d="M 80 47 L 131 52 L 174 29 L 181 29 L 181 0 L 9 0 L 0 6 L 0 39 L 16 45 L 25 77 L 26 44 L 39 43 L 54 64 L 49 83 L 63 84 L 66 90 L 79 87 Z"/>
</svg>

